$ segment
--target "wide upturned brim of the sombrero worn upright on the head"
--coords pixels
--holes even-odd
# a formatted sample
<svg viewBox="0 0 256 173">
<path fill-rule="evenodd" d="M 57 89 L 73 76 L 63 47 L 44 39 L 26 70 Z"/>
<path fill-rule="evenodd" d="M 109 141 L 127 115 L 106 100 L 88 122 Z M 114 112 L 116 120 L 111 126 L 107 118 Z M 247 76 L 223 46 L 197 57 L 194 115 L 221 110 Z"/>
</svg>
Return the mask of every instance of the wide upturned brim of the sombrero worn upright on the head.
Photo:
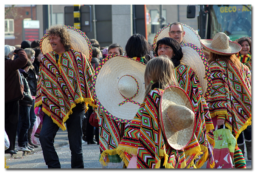
<svg viewBox="0 0 256 173">
<path fill-rule="evenodd" d="M 201 40 L 201 44 L 207 51 L 218 55 L 233 55 L 241 51 L 241 45 L 232 41 L 229 41 L 230 51 L 227 51 L 226 49 L 218 49 L 212 47 L 212 39 Z"/>
</svg>

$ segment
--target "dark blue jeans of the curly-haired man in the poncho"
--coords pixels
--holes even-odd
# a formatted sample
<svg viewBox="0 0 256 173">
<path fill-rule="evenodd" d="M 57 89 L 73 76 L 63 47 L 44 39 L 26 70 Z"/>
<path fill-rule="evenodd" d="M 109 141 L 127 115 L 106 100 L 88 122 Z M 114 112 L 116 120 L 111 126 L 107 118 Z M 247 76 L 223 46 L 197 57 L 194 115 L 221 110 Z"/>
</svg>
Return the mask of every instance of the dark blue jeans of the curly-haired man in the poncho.
<svg viewBox="0 0 256 173">
<path fill-rule="evenodd" d="M 84 119 L 84 110 L 73 111 L 66 121 L 68 140 L 71 150 L 71 167 L 84 168 L 83 150 L 82 150 L 82 122 Z M 61 168 L 58 154 L 53 145 L 59 127 L 52 121 L 48 115 L 44 116 L 41 133 L 39 136 L 43 150 L 44 161 L 48 168 Z"/>
</svg>

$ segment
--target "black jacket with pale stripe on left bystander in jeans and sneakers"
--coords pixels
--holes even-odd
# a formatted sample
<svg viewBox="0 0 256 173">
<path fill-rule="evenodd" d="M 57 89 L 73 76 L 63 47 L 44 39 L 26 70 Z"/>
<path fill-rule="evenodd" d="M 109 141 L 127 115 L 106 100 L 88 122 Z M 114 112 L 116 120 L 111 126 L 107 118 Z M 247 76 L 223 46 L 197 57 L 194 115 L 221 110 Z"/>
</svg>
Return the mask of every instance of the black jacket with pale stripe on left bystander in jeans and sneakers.
<svg viewBox="0 0 256 173">
<path fill-rule="evenodd" d="M 33 104 L 33 99 L 30 93 L 30 89 L 29 89 L 29 84 L 26 80 L 26 78 L 28 77 L 28 73 L 26 73 L 26 71 L 19 69 L 20 74 L 21 74 L 21 79 L 23 81 L 24 84 L 24 90 L 23 90 L 23 99 L 20 99 L 20 105 L 22 106 L 32 106 Z"/>
</svg>

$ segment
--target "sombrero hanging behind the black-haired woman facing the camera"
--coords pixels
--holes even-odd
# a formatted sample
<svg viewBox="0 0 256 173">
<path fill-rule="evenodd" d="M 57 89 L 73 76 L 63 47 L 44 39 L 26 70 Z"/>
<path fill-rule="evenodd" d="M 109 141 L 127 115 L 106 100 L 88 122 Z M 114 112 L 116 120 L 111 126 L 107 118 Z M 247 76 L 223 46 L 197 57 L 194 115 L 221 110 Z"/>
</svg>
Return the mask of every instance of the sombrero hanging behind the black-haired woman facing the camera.
<svg viewBox="0 0 256 173">
<path fill-rule="evenodd" d="M 181 47 L 183 57 L 180 64 L 190 66 L 197 74 L 204 98 L 207 99 L 212 88 L 212 78 L 207 59 L 203 51 L 192 43 L 185 43 Z"/>
</svg>

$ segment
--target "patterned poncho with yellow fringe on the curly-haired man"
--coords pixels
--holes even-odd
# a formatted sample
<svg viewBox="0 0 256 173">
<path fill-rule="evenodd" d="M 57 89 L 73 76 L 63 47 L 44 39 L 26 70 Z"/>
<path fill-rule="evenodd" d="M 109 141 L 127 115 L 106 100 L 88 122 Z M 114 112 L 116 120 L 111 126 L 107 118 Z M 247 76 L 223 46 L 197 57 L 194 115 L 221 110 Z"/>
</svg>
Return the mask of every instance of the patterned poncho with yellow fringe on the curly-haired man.
<svg viewBox="0 0 256 173">
<path fill-rule="evenodd" d="M 52 117 L 62 130 L 66 130 L 64 122 L 72 114 L 77 103 L 85 102 L 86 106 L 93 102 L 91 84 L 93 69 L 84 54 L 70 50 L 58 54 L 44 54 L 38 74 L 38 85 L 35 107 L 42 105 L 42 110 Z"/>
</svg>

